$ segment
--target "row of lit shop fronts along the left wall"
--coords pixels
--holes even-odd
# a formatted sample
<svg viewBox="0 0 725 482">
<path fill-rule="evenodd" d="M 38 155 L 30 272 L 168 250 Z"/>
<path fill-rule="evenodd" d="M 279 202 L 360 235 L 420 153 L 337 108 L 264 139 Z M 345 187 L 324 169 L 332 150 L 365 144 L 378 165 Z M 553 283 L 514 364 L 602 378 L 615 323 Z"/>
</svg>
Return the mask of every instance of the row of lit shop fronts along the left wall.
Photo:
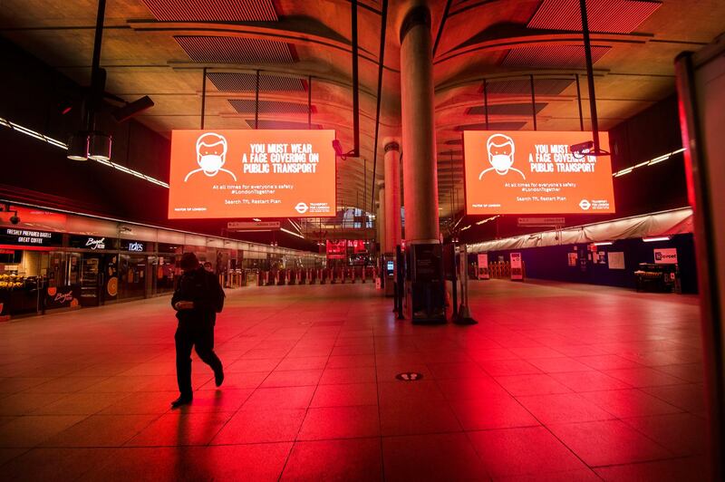
<svg viewBox="0 0 725 482">
<path fill-rule="evenodd" d="M 275 246 L 41 207 L 10 208 L 20 221 L 0 217 L 2 318 L 169 294 L 185 252 L 209 262 L 227 288 L 247 284 L 259 269 L 304 262 L 300 253 Z"/>
</svg>

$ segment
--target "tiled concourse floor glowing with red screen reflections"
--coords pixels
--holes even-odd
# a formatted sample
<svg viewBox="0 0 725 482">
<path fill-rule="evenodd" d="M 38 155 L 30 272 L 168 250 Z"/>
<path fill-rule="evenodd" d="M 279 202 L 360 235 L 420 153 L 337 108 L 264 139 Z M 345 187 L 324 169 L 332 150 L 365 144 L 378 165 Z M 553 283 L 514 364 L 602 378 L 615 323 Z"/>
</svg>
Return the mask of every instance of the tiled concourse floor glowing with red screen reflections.
<svg viewBox="0 0 725 482">
<path fill-rule="evenodd" d="M 0 324 L 4 480 L 700 480 L 696 297 L 471 282 L 477 325 L 373 284 L 227 291 L 176 390 L 169 297 Z M 395 375 L 417 371 L 420 381 Z"/>
</svg>

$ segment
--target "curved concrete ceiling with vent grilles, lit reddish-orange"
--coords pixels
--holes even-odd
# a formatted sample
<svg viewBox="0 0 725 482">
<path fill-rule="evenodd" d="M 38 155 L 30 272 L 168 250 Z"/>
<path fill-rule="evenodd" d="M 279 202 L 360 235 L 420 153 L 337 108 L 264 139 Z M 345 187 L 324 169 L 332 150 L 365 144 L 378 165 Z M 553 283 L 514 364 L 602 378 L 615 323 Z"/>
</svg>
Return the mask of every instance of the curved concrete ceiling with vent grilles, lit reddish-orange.
<svg viewBox="0 0 725 482">
<path fill-rule="evenodd" d="M 400 134 L 399 30 L 408 1 L 388 2 L 380 136 L 374 146 L 382 2 L 358 2 L 361 158 L 339 161 L 341 206 L 370 209 L 372 159 Z M 109 0 L 102 44 L 107 91 L 156 105 L 139 116 L 153 130 L 199 127 L 202 69 L 206 127 L 334 129 L 353 147 L 351 1 Z M 483 129 L 487 79 L 492 128 L 578 130 L 575 75 L 589 128 L 577 0 L 439 0 L 429 3 L 434 55 L 441 217 L 462 206 L 460 131 Z M 607 130 L 674 90 L 673 59 L 725 26 L 722 0 L 588 0 L 600 128 Z M 92 59 L 94 0 L 3 0 L 0 34 L 81 84 Z M 445 14 L 448 11 L 448 14 Z M 311 79 L 311 82 L 309 82 Z M 251 83 L 250 83 L 251 80 Z M 311 93 L 308 89 L 311 87 Z M 251 108 L 250 108 L 251 106 Z M 289 124 L 292 122 L 292 124 Z M 403 153 L 404 156 L 404 153 Z M 160 160 L 166 162 L 166 159 Z"/>
</svg>

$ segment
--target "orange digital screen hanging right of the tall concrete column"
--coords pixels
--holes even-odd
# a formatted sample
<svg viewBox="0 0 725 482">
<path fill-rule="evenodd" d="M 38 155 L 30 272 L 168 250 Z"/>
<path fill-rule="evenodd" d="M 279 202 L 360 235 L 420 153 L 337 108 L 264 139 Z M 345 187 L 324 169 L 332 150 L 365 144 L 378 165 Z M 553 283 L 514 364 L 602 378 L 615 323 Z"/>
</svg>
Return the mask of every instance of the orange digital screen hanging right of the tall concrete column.
<svg viewBox="0 0 725 482">
<path fill-rule="evenodd" d="M 570 146 L 586 131 L 463 132 L 466 214 L 614 213 L 610 156 L 585 156 Z M 599 133 L 609 151 L 609 134 Z"/>
</svg>

